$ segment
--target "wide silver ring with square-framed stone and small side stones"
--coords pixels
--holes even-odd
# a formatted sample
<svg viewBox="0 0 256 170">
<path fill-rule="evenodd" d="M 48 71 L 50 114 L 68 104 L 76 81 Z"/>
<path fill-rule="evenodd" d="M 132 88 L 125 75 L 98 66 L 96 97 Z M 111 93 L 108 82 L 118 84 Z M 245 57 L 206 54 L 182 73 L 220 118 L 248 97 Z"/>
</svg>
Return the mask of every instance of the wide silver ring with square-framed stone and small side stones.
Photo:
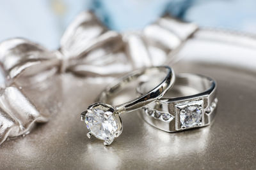
<svg viewBox="0 0 256 170">
<path fill-rule="evenodd" d="M 139 94 L 150 89 L 150 81 L 140 83 Z M 166 132 L 183 131 L 211 124 L 218 99 L 216 82 L 198 74 L 176 74 L 175 84 L 161 99 L 140 110 L 150 125 Z"/>
</svg>

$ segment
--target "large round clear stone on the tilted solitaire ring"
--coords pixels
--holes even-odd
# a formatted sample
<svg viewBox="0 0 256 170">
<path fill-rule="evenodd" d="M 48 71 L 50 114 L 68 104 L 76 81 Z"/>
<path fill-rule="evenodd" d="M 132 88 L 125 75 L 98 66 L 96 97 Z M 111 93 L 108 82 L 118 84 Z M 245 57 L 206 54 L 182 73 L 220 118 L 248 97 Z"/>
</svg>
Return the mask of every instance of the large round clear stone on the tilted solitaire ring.
<svg viewBox="0 0 256 170">
<path fill-rule="evenodd" d="M 120 118 L 114 115 L 114 109 L 106 104 L 95 104 L 88 109 L 85 123 L 96 138 L 108 141 L 120 134 Z"/>
</svg>

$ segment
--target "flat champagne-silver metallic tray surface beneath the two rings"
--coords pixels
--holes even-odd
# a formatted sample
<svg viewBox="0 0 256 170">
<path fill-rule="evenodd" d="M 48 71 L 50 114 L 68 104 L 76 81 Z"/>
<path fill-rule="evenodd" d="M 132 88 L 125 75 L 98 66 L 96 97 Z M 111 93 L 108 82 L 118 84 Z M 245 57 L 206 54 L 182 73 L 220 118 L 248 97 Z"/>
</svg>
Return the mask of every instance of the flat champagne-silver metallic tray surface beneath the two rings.
<svg viewBox="0 0 256 170">
<path fill-rule="evenodd" d="M 185 49 L 182 53 L 189 55 L 191 49 Z M 104 146 L 86 137 L 79 113 L 94 102 L 100 92 L 95 89 L 104 89 L 111 78 L 63 74 L 49 80 L 56 86 L 43 89 L 44 95 L 23 89 L 38 103 L 54 90 L 45 104 L 52 119 L 26 138 L 0 146 L 0 169 L 256 169 L 256 71 L 186 57 L 173 65 L 177 73 L 205 74 L 218 83 L 218 112 L 212 125 L 168 133 L 148 125 L 133 111 L 122 115 L 122 135 L 111 146 Z"/>
</svg>

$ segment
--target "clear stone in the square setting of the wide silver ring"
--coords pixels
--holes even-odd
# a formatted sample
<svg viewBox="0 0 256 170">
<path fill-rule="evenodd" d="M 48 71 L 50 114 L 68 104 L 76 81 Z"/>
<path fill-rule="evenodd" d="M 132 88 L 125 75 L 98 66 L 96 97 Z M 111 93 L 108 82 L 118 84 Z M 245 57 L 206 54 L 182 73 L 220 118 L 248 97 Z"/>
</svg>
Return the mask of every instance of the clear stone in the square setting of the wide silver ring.
<svg viewBox="0 0 256 170">
<path fill-rule="evenodd" d="M 180 110 L 180 124 L 182 127 L 193 127 L 202 122 L 202 106 L 186 106 Z"/>
</svg>

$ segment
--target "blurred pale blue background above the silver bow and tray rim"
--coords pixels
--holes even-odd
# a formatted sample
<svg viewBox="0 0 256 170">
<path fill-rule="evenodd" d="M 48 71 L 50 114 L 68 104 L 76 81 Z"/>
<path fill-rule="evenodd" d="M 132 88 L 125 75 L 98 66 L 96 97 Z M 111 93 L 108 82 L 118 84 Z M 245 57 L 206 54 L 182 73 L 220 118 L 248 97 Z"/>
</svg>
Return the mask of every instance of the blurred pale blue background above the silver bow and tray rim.
<svg viewBox="0 0 256 170">
<path fill-rule="evenodd" d="M 255 0 L 6 0 L 0 6 L 0 41 L 31 39 L 58 48 L 67 25 L 83 10 L 93 10 L 116 31 L 141 29 L 164 13 L 202 27 L 256 34 Z"/>
</svg>

